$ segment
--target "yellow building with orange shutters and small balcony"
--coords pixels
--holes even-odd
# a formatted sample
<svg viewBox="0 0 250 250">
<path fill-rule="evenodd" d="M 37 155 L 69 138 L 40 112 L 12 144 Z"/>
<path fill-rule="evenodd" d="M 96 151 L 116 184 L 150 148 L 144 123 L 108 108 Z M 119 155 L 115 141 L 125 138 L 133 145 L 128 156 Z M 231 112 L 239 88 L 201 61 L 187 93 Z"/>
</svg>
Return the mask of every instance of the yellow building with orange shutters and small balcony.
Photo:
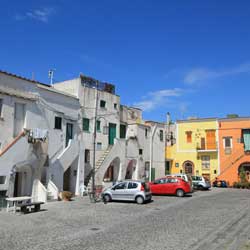
<svg viewBox="0 0 250 250">
<path fill-rule="evenodd" d="M 213 180 L 218 171 L 218 129 L 215 118 L 181 120 L 169 125 L 166 174 L 203 175 Z"/>
</svg>

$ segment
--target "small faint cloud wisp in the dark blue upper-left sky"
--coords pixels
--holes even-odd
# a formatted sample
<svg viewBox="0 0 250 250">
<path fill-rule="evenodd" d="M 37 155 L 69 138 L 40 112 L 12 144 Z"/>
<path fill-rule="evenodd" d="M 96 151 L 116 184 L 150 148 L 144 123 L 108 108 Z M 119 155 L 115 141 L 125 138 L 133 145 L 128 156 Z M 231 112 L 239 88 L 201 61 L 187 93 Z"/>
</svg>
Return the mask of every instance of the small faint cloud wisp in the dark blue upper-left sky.
<svg viewBox="0 0 250 250">
<path fill-rule="evenodd" d="M 54 13 L 53 8 L 41 8 L 41 9 L 35 9 L 28 11 L 24 13 L 23 15 L 17 14 L 15 16 L 15 19 L 17 21 L 22 21 L 25 19 L 33 19 L 36 21 L 40 21 L 43 23 L 48 23 L 49 17 Z"/>
</svg>

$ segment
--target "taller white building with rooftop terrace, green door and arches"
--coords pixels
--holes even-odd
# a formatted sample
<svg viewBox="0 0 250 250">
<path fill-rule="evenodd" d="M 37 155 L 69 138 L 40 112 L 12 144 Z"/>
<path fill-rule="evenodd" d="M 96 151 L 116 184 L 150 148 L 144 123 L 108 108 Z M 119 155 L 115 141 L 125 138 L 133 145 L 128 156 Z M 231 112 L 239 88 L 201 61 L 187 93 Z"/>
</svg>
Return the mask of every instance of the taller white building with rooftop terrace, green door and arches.
<svg viewBox="0 0 250 250">
<path fill-rule="evenodd" d="M 145 124 L 140 109 L 120 105 L 114 85 L 80 75 L 55 84 L 55 88 L 80 100 L 86 185 L 91 184 L 94 162 L 95 116 L 97 185 L 108 185 L 121 179 L 153 179 L 164 174 L 164 125 L 155 122 Z"/>
</svg>

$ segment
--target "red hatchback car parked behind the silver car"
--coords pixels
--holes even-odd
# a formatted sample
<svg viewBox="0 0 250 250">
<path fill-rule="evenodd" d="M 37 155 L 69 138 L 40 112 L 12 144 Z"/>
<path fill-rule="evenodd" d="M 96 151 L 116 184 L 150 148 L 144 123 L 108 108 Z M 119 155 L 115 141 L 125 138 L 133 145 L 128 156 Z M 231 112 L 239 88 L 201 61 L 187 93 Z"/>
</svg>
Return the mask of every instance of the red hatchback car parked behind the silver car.
<svg viewBox="0 0 250 250">
<path fill-rule="evenodd" d="M 190 184 L 178 177 L 163 177 L 150 182 L 152 194 L 175 194 L 183 197 L 187 193 L 191 193 Z"/>
</svg>

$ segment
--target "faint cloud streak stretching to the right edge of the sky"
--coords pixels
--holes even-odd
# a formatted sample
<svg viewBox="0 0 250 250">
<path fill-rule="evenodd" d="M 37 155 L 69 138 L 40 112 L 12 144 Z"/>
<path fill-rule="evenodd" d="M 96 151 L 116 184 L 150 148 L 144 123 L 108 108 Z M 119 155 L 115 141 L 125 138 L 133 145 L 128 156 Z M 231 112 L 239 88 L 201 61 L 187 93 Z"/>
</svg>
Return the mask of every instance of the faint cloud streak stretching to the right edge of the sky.
<svg viewBox="0 0 250 250">
<path fill-rule="evenodd" d="M 235 68 L 225 70 L 209 70 L 206 68 L 196 68 L 189 71 L 184 76 L 184 82 L 189 85 L 201 84 L 202 81 L 223 76 L 250 73 L 250 63 L 241 64 Z"/>
</svg>

